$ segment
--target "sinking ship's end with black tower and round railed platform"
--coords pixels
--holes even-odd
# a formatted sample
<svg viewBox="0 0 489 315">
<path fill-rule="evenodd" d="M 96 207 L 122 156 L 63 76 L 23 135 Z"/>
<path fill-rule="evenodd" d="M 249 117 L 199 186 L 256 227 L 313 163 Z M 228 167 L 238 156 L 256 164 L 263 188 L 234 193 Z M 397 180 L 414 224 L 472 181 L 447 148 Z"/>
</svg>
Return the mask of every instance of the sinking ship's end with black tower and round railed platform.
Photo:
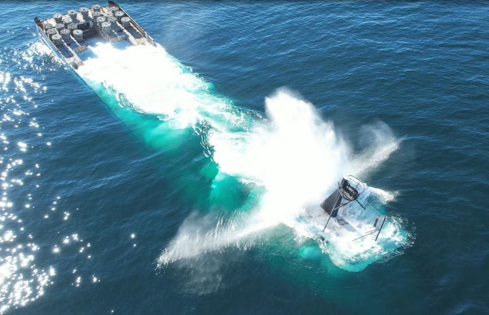
<svg viewBox="0 0 489 315">
<path fill-rule="evenodd" d="M 320 240 L 359 242 L 366 237 L 375 242 L 381 235 L 387 216 L 367 202 L 366 185 L 355 176 L 346 176 L 320 205 L 306 208 Z"/>
</svg>

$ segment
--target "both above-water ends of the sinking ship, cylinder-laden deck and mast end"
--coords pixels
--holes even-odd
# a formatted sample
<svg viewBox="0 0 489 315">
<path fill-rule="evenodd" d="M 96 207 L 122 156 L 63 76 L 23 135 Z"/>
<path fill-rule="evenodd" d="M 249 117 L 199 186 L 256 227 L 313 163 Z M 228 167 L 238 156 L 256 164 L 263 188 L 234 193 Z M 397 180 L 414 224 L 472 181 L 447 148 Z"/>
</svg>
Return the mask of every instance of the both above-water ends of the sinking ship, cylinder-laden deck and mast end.
<svg viewBox="0 0 489 315">
<path fill-rule="evenodd" d="M 116 2 L 108 1 L 107 6 L 98 4 L 90 8 L 82 7 L 77 11 L 56 13 L 40 20 L 34 19 L 40 40 L 52 51 L 67 69 L 91 87 L 80 75 L 84 62 L 96 56 L 95 46 L 99 43 L 111 43 L 115 47 L 153 46 L 156 43 Z M 87 62 L 88 64 L 88 62 Z M 321 204 L 306 208 L 308 231 L 323 243 L 344 244 L 345 241 L 358 244 L 369 240 L 389 246 L 391 233 L 384 233 L 387 217 L 372 207 L 366 193 L 366 185 L 354 176 L 344 177 L 335 191 Z M 398 242 L 394 240 L 392 248 Z M 365 248 L 367 245 L 365 246 Z"/>
</svg>

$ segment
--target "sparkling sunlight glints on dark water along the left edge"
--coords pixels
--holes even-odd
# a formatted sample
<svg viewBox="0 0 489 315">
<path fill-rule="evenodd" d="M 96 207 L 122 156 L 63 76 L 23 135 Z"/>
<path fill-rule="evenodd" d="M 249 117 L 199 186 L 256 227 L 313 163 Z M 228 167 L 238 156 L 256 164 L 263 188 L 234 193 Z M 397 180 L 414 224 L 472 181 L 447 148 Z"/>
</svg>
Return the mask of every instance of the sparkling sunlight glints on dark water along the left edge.
<svg viewBox="0 0 489 315">
<path fill-rule="evenodd" d="M 52 196 L 47 209 L 38 207 L 39 202 L 49 203 L 50 196 L 39 188 L 49 185 L 44 181 L 41 165 L 52 142 L 44 139 L 44 128 L 32 113 L 38 110 L 37 101 L 46 95 L 47 87 L 31 77 L 4 71 L 6 65 L 13 72 L 49 70 L 49 67 L 59 70 L 59 64 L 53 64 L 51 57 L 49 49 L 39 42 L 0 54 L 0 66 L 3 66 L 0 68 L 0 313 L 43 296 L 59 273 L 53 266 L 63 259 L 65 249 L 81 245 L 77 256 L 91 259 L 89 242 L 84 242 L 76 232 L 60 235 L 50 226 L 57 222 L 60 227 L 71 216 L 69 209 L 58 207 L 61 196 Z M 39 238 L 42 233 L 31 231 L 33 222 L 41 231 L 49 226 L 50 233 Z M 45 259 L 38 262 L 38 255 L 47 255 L 47 262 Z M 72 285 L 79 287 L 82 276 L 89 275 L 74 270 L 76 277 Z M 100 281 L 95 275 L 90 276 L 96 278 L 92 282 Z"/>
</svg>

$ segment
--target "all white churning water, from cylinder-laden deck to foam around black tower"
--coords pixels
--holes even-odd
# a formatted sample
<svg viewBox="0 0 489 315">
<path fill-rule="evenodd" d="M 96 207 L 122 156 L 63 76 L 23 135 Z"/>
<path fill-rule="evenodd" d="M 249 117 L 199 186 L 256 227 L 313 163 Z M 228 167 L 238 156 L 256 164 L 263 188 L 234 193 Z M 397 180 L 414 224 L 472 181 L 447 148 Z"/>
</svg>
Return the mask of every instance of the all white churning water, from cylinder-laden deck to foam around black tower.
<svg viewBox="0 0 489 315">
<path fill-rule="evenodd" d="M 319 204 L 342 176 L 365 176 L 398 149 L 399 141 L 389 127 L 379 123 L 364 130 L 371 134 L 369 146 L 352 152 L 331 122 L 323 121 L 312 104 L 287 90 L 265 99 L 267 119 L 262 119 L 215 93 L 211 83 L 161 47 L 103 43 L 94 53 L 77 72 L 96 92 L 103 84 L 120 106 L 156 114 L 175 131 L 193 128 L 203 138 L 205 153 L 218 164 L 214 183 L 233 176 L 250 191 L 245 205 L 251 211 L 235 209 L 231 217 L 185 220 L 158 257 L 158 266 L 228 247 L 246 249 L 263 239 L 270 242 L 273 238 L 266 235 L 272 228 L 288 228 L 298 245 L 317 239 L 303 220 L 306 207 Z M 383 198 L 384 203 L 394 198 L 380 189 L 370 189 L 369 194 L 391 196 Z M 384 246 L 383 238 L 394 243 Z M 345 245 L 351 240 L 335 239 L 322 250 L 340 268 L 356 271 L 385 259 L 407 238 L 394 220 L 387 223 L 378 243 Z"/>
</svg>

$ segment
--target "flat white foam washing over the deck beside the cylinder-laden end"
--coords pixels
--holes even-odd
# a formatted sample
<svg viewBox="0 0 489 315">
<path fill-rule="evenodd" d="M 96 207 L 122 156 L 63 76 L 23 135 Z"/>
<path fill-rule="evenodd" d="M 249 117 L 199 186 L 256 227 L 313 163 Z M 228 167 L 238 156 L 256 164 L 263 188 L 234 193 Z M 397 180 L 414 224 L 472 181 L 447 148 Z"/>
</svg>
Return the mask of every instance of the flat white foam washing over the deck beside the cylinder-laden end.
<svg viewBox="0 0 489 315">
<path fill-rule="evenodd" d="M 212 95 L 212 85 L 183 67 L 164 49 L 153 46 L 129 46 L 116 49 L 100 43 L 93 48 L 97 58 L 80 67 L 83 77 L 103 83 L 123 94 L 138 111 L 162 115 L 175 129 L 194 127 L 205 116 L 215 128 L 233 116 L 227 102 Z M 116 96 L 117 97 L 117 96 Z"/>
</svg>

